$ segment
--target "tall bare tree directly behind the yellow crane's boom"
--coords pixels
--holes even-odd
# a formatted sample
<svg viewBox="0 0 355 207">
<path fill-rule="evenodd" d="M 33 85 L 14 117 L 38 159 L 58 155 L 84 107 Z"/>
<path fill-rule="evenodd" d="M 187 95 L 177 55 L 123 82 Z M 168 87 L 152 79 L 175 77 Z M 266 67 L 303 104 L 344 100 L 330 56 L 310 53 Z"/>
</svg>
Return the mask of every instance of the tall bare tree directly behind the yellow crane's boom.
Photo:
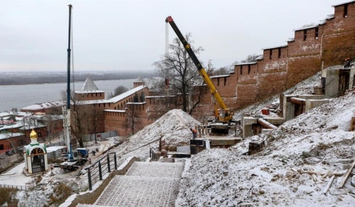
<svg viewBox="0 0 355 207">
<path fill-rule="evenodd" d="M 191 33 L 185 36 L 187 42 L 193 43 Z M 169 45 L 170 53 L 162 56 L 161 60 L 153 63 L 161 77 L 169 78 L 170 85 L 182 98 L 182 110 L 187 112 L 188 96 L 193 94 L 194 80 L 199 77 L 198 71 L 189 54 L 178 38 Z M 192 48 L 196 55 L 203 51 L 202 47 Z"/>
</svg>

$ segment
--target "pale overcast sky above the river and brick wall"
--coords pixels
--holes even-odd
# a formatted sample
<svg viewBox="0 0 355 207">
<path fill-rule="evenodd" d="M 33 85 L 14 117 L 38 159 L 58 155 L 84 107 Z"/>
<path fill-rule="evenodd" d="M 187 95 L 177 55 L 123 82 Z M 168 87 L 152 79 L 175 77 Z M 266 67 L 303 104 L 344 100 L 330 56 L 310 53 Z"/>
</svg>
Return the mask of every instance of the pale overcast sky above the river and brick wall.
<svg viewBox="0 0 355 207">
<path fill-rule="evenodd" d="M 76 70 L 152 70 L 164 53 L 166 16 L 205 49 L 202 62 L 223 67 L 286 44 L 293 29 L 344 1 L 2 0 L 0 71 L 65 71 L 69 3 Z M 175 37 L 169 28 L 170 42 Z"/>
</svg>

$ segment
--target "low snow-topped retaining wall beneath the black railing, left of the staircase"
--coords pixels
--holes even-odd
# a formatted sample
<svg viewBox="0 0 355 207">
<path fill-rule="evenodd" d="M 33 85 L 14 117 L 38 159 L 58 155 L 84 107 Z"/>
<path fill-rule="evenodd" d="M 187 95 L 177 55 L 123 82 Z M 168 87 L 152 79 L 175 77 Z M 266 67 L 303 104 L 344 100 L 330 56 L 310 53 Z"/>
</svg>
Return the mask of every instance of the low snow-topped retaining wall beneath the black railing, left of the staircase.
<svg viewBox="0 0 355 207">
<path fill-rule="evenodd" d="M 93 185 L 93 190 L 87 190 L 75 195 L 71 195 L 67 200 L 59 207 L 75 207 L 79 203 L 81 204 L 93 204 L 101 193 L 105 190 L 106 186 L 110 183 L 115 175 L 125 175 L 130 169 L 132 164 L 137 160 L 136 157 L 129 157 L 127 160 L 119 166 L 117 170 L 113 170 L 110 174 L 106 174 L 103 180 L 98 181 Z"/>
</svg>

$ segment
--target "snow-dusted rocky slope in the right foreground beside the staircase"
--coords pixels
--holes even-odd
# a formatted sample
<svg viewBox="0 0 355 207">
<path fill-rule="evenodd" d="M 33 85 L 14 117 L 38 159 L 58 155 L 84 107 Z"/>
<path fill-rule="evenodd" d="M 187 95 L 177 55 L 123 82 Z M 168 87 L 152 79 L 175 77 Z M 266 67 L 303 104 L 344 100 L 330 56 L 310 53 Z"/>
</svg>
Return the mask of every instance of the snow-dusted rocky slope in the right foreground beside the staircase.
<svg viewBox="0 0 355 207">
<path fill-rule="evenodd" d="M 351 177 L 345 190 L 335 187 L 355 160 L 354 112 L 350 92 L 233 148 L 204 150 L 184 172 L 176 206 L 353 206 Z M 250 140 L 263 139 L 262 152 L 241 154 Z"/>
</svg>

